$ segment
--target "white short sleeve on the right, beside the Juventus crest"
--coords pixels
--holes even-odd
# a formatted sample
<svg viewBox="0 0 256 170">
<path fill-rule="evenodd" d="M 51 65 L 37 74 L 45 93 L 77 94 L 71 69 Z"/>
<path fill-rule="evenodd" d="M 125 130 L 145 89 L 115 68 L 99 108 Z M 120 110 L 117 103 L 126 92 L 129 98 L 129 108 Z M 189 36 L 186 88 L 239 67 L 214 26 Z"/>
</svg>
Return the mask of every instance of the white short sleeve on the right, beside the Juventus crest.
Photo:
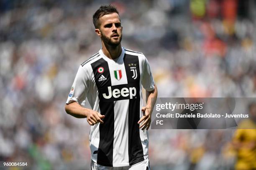
<svg viewBox="0 0 256 170">
<path fill-rule="evenodd" d="M 148 63 L 148 60 L 146 59 L 146 57 L 143 55 L 144 57 L 144 62 L 143 62 L 143 68 L 142 68 L 142 80 L 141 80 L 141 84 L 143 86 L 143 88 L 145 88 L 148 92 L 154 90 L 154 78 L 152 76 L 151 70 L 150 70 L 150 66 Z"/>
</svg>

